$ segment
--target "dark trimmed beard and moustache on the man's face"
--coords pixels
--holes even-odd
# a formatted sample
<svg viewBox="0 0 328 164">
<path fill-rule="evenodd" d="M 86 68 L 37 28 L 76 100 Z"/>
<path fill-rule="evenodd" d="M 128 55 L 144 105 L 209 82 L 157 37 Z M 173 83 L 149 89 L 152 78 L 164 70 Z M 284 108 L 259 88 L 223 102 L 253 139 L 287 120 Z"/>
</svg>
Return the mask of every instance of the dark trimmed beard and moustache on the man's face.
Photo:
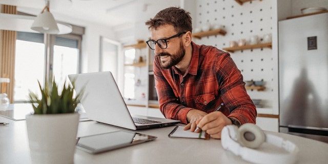
<svg viewBox="0 0 328 164">
<path fill-rule="evenodd" d="M 185 53 L 186 53 L 186 50 L 183 48 L 182 42 L 180 42 L 180 49 L 178 50 L 178 52 L 176 54 L 171 55 L 170 53 L 166 53 L 166 52 L 157 54 L 157 57 L 160 61 L 160 67 L 164 68 L 164 69 L 169 69 L 172 66 L 177 65 L 182 60 L 182 58 L 185 56 Z M 168 55 L 169 57 L 171 57 L 169 61 L 166 61 L 166 64 L 164 64 L 160 59 L 160 56 L 165 56 L 165 55 Z"/>
</svg>

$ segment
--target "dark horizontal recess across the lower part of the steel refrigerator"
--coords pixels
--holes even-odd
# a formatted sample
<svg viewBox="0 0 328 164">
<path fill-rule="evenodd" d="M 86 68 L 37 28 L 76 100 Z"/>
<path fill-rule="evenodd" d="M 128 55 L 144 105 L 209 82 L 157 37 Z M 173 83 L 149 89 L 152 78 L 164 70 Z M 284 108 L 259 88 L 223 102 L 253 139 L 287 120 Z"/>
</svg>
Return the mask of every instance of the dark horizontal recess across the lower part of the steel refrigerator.
<svg viewBox="0 0 328 164">
<path fill-rule="evenodd" d="M 306 127 L 299 125 L 288 125 L 287 127 L 289 132 L 328 136 L 328 128 Z"/>
</svg>

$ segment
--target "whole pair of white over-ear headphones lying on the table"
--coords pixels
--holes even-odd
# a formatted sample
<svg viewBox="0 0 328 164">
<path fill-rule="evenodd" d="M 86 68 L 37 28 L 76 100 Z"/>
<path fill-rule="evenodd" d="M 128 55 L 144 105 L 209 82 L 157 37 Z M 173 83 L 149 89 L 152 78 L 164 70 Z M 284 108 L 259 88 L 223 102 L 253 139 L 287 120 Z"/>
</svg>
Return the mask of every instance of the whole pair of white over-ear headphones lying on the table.
<svg viewBox="0 0 328 164">
<path fill-rule="evenodd" d="M 283 148 L 289 154 L 272 154 L 255 150 L 263 142 Z M 294 163 L 297 159 L 298 147 L 289 140 L 264 134 L 255 124 L 243 124 L 239 128 L 228 125 L 222 129 L 221 144 L 226 150 L 253 163 Z M 252 149 L 251 149 L 252 148 Z"/>
</svg>

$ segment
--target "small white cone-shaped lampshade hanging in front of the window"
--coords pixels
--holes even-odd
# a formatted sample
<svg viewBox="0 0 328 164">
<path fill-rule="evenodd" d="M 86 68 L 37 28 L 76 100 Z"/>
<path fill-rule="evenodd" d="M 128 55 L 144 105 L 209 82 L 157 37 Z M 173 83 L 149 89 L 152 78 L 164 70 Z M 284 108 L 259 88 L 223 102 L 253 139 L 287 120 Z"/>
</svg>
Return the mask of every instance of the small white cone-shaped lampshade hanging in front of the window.
<svg viewBox="0 0 328 164">
<path fill-rule="evenodd" d="M 59 29 L 53 15 L 44 10 L 42 13 L 38 14 L 32 24 L 32 30 L 48 33 L 48 34 L 57 34 L 59 33 Z"/>
</svg>

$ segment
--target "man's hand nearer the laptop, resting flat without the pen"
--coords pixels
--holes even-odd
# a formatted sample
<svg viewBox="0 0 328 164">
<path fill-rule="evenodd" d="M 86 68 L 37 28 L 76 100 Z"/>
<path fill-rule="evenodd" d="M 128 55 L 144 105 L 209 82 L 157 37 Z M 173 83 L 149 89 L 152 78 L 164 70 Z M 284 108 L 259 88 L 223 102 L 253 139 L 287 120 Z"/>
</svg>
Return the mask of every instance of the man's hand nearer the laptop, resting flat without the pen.
<svg viewBox="0 0 328 164">
<path fill-rule="evenodd" d="M 190 129 L 191 132 L 194 132 L 197 127 L 196 121 L 200 120 L 205 115 L 207 115 L 206 112 L 203 112 L 203 111 L 200 111 L 197 109 L 190 110 L 187 113 L 187 120 L 188 120 L 189 124 L 185 128 L 183 128 L 183 130 Z M 198 131 L 200 131 L 200 130 L 198 130 Z"/>
</svg>

